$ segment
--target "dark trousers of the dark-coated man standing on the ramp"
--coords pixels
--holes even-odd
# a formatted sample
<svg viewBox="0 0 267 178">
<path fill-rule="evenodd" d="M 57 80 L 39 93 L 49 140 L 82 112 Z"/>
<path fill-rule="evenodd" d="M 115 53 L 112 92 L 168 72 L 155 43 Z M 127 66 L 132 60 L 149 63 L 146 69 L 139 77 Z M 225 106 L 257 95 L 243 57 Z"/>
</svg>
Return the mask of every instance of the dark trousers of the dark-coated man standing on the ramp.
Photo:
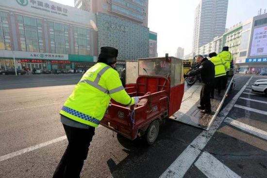
<svg viewBox="0 0 267 178">
<path fill-rule="evenodd" d="M 211 110 L 210 94 L 213 86 L 211 84 L 202 83 L 202 89 L 200 91 L 200 106 L 205 107 L 207 110 Z"/>
</svg>

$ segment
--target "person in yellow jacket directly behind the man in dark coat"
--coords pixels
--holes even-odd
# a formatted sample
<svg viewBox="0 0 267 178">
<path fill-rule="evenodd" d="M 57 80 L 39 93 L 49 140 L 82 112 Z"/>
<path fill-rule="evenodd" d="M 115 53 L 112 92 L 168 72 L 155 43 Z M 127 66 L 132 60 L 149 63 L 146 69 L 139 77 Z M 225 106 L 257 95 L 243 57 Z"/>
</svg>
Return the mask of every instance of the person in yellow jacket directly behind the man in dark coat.
<svg viewBox="0 0 267 178">
<path fill-rule="evenodd" d="M 209 57 L 215 66 L 215 85 L 211 90 L 211 98 L 214 98 L 214 88 L 217 88 L 218 94 L 220 94 L 228 66 L 223 58 L 217 56 L 217 53 L 210 53 Z"/>
</svg>

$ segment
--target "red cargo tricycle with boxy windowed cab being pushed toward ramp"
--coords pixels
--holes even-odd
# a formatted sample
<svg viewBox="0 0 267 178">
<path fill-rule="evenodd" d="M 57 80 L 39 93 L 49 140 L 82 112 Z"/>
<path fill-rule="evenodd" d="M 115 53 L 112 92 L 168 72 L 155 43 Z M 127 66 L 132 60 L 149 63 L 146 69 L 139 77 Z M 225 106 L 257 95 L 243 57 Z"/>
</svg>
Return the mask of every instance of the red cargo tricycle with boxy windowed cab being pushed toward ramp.
<svg viewBox="0 0 267 178">
<path fill-rule="evenodd" d="M 183 60 L 175 57 L 146 58 L 138 59 L 136 64 L 136 83 L 126 85 L 125 90 L 132 97 L 141 96 L 139 103 L 127 107 L 112 101 L 100 124 L 128 139 L 143 137 L 152 144 L 158 136 L 160 124 L 181 106 Z"/>
</svg>

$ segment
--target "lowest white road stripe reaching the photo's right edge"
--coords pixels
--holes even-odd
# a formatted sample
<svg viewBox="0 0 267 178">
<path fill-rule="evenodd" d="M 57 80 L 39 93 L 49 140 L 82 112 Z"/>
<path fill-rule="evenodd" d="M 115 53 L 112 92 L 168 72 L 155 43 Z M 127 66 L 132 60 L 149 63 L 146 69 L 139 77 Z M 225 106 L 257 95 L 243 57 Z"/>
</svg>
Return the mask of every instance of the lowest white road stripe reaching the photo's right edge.
<svg viewBox="0 0 267 178">
<path fill-rule="evenodd" d="M 267 132 L 264 130 L 258 129 L 256 127 L 253 127 L 253 126 L 250 126 L 250 125 L 247 125 L 244 123 L 241 123 L 241 122 L 236 121 L 236 120 L 229 118 L 229 117 L 227 117 L 224 120 L 224 122 L 228 123 L 230 125 L 233 125 L 234 127 L 239 128 L 241 130 L 244 130 L 245 132 L 248 132 L 252 135 L 255 135 L 255 136 L 260 137 L 264 140 L 267 140 Z"/>
</svg>

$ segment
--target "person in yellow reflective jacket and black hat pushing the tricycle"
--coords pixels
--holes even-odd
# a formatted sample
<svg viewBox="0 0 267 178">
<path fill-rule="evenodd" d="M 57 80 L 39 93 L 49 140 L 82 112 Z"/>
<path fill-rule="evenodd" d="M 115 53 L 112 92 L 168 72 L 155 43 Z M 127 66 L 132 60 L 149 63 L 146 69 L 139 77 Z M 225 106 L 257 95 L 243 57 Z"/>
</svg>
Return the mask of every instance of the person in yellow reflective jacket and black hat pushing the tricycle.
<svg viewBox="0 0 267 178">
<path fill-rule="evenodd" d="M 88 147 L 111 98 L 123 105 L 137 104 L 130 97 L 114 70 L 118 50 L 101 47 L 98 62 L 83 74 L 60 111 L 68 145 L 53 178 L 80 178 Z"/>
</svg>

